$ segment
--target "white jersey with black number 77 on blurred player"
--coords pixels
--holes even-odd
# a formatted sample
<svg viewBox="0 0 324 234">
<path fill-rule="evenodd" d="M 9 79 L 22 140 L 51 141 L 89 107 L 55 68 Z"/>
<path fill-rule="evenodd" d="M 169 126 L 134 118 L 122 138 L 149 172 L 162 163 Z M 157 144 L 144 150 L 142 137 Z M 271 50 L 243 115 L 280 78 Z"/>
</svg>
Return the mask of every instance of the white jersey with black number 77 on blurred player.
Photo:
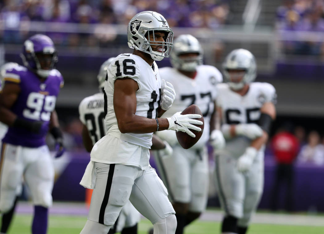
<svg viewBox="0 0 324 234">
<path fill-rule="evenodd" d="M 171 67 L 161 68 L 160 76 L 161 79 L 170 82 L 176 91 L 176 98 L 171 108 L 163 114 L 163 117 L 170 117 L 176 112 L 183 111 L 191 104 L 196 104 L 203 113 L 204 130 L 202 137 L 192 149 L 203 147 L 209 139 L 209 123 L 214 112 L 214 101 L 217 95 L 216 84 L 223 81 L 222 74 L 213 66 L 200 65 L 197 67 L 197 74 L 194 79 Z M 168 131 L 168 135 L 173 134 L 175 136 L 176 134 L 175 131 L 165 131 Z M 158 135 L 163 138 L 162 134 L 164 133 Z"/>
</svg>

